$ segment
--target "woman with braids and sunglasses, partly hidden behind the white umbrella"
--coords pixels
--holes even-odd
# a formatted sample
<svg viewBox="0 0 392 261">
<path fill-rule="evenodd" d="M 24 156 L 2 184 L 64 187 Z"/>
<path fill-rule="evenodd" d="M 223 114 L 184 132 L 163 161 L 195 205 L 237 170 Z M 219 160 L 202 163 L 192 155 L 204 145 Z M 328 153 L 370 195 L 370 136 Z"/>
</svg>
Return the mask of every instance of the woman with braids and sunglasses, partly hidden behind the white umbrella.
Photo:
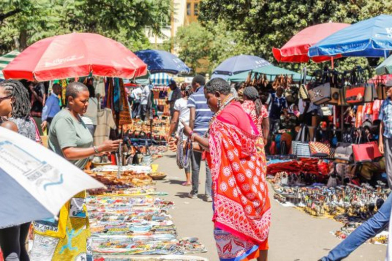
<svg viewBox="0 0 392 261">
<path fill-rule="evenodd" d="M 30 117 L 29 92 L 20 82 L 0 82 L 0 117 L 5 119 L 2 127 L 35 141 L 36 127 Z M 29 227 L 30 222 L 0 229 L 0 248 L 5 260 L 29 260 L 26 250 Z"/>
</svg>

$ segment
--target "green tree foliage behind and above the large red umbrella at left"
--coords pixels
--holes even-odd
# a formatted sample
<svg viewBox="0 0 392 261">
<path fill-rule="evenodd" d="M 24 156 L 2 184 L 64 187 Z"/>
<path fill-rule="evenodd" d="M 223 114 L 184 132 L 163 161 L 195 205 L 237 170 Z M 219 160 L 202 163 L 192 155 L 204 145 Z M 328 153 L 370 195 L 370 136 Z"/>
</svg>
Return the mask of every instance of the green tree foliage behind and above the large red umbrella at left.
<svg viewBox="0 0 392 261">
<path fill-rule="evenodd" d="M 49 36 L 98 33 L 131 50 L 150 47 L 145 28 L 160 35 L 170 21 L 170 0 L 0 1 L 0 52 L 20 50 Z"/>
</svg>

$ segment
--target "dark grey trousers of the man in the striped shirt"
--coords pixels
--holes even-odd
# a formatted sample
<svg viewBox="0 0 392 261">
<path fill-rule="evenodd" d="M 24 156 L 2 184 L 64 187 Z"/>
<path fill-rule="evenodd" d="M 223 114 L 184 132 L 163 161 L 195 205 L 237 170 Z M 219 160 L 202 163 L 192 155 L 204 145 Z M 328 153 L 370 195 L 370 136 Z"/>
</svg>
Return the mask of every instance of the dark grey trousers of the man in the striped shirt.
<svg viewBox="0 0 392 261">
<path fill-rule="evenodd" d="M 192 191 L 190 192 L 192 195 L 197 195 L 199 193 L 199 173 L 200 173 L 201 162 L 202 162 L 202 152 L 193 151 L 192 152 Z M 206 185 L 205 185 L 204 193 L 207 197 L 211 197 L 211 186 L 212 186 L 211 171 L 206 162 Z"/>
</svg>

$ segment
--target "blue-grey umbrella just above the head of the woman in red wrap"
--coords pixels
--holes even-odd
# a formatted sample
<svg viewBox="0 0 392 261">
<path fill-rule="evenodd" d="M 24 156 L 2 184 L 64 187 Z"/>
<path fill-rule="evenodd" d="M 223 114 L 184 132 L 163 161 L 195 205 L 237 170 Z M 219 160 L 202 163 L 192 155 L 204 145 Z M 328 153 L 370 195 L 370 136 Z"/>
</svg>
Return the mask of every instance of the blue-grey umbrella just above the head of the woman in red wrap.
<svg viewBox="0 0 392 261">
<path fill-rule="evenodd" d="M 243 71 L 261 68 L 271 63 L 264 59 L 252 55 L 238 55 L 226 59 L 220 63 L 213 71 L 213 74 L 233 75 Z"/>
</svg>

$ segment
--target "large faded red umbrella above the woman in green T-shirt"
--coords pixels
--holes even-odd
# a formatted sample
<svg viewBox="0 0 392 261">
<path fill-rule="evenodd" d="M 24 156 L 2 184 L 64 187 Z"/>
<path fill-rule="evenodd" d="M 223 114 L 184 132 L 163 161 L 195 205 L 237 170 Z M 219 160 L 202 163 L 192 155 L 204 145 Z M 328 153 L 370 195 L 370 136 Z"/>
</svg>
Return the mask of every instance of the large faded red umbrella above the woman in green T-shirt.
<svg viewBox="0 0 392 261">
<path fill-rule="evenodd" d="M 98 34 L 71 33 L 42 39 L 18 55 L 4 70 L 6 79 L 50 81 L 90 73 L 134 78 L 147 73 L 132 51 Z"/>
</svg>

